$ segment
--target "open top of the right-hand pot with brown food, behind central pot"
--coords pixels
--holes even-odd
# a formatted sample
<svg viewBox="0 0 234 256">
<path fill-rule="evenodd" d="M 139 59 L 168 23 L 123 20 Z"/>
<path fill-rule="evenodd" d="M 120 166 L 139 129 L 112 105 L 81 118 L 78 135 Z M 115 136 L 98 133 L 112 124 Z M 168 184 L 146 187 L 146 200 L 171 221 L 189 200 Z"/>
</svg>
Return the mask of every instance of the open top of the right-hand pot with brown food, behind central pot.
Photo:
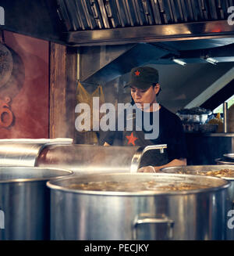
<svg viewBox="0 0 234 256">
<path fill-rule="evenodd" d="M 205 175 L 234 181 L 234 165 L 188 165 L 161 168 L 165 173 Z"/>
</svg>

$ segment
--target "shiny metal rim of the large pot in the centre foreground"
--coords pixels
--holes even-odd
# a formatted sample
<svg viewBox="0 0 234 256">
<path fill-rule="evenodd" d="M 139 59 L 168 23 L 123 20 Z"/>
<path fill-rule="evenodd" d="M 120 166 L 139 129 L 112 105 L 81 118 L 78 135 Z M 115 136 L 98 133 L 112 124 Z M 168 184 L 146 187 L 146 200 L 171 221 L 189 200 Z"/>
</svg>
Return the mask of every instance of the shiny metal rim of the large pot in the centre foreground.
<svg viewBox="0 0 234 256">
<path fill-rule="evenodd" d="M 107 174 L 99 174 L 99 175 L 107 175 Z M 176 175 L 177 177 L 184 177 L 184 175 L 179 175 L 179 174 L 167 174 L 167 173 L 110 173 L 108 175 L 152 175 L 152 176 L 174 176 Z M 80 175 L 80 176 L 75 176 L 75 178 L 82 178 L 82 177 L 87 177 L 88 175 Z M 203 175 L 186 175 L 187 177 L 203 177 Z M 91 175 L 90 175 L 91 177 Z M 81 189 L 69 189 L 64 186 L 60 185 L 55 185 L 53 182 L 60 182 L 64 181 L 66 182 L 67 180 L 73 180 L 74 177 L 68 177 L 68 178 L 60 178 L 56 179 L 56 181 L 48 181 L 46 182 L 46 186 L 48 186 L 49 189 L 51 190 L 58 190 L 66 193 L 78 193 L 78 194 L 84 194 L 84 195 L 94 195 L 94 196 L 176 196 L 176 195 L 187 195 L 187 194 L 192 194 L 192 193 L 207 193 L 207 192 L 215 192 L 217 190 L 221 189 L 226 189 L 231 185 L 231 182 L 228 180 L 225 180 L 223 178 L 218 178 L 218 177 L 211 177 L 211 176 L 205 176 L 205 178 L 208 179 L 216 179 L 216 180 L 222 180 L 224 183 L 221 186 L 216 186 L 216 187 L 208 187 L 207 189 L 190 189 L 190 190 L 183 190 L 183 191 L 167 191 L 167 192 L 154 192 L 151 190 L 144 190 L 144 191 L 139 191 L 139 192 L 119 192 L 119 191 L 95 191 L 95 190 L 81 190 Z"/>
</svg>

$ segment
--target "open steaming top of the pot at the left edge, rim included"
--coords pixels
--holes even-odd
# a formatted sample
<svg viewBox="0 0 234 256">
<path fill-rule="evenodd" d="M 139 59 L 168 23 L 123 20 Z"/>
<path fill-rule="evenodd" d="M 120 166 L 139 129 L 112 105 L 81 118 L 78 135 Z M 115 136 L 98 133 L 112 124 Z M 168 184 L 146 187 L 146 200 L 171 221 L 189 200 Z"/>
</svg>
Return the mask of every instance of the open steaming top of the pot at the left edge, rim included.
<svg viewBox="0 0 234 256">
<path fill-rule="evenodd" d="M 38 182 L 73 175 L 73 171 L 58 168 L 0 167 L 0 186 L 10 182 Z"/>
</svg>

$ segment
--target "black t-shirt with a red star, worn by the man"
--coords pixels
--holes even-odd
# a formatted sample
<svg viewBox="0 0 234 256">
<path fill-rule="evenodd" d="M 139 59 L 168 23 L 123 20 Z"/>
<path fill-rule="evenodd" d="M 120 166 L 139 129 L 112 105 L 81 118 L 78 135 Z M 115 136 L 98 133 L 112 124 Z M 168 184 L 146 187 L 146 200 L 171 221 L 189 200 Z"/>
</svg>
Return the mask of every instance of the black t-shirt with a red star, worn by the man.
<svg viewBox="0 0 234 256">
<path fill-rule="evenodd" d="M 142 120 L 144 120 L 144 112 L 140 111 L 142 115 Z M 153 124 L 153 121 L 157 120 L 153 117 L 155 112 L 148 113 L 148 117 L 150 118 L 150 124 Z M 143 159 L 141 160 L 141 166 L 146 165 L 163 165 L 168 162 L 179 159 L 186 158 L 186 141 L 185 135 L 183 132 L 183 125 L 180 118 L 167 110 L 164 106 L 161 106 L 159 110 L 159 133 L 158 138 L 155 139 L 146 139 L 145 135 L 147 133 L 151 133 L 151 131 L 146 131 L 144 129 L 144 121 L 142 125 L 142 129 L 137 131 L 137 124 L 134 121 L 136 118 L 136 114 L 131 115 L 124 114 L 125 120 L 125 130 L 124 131 L 108 131 L 106 132 L 103 139 L 101 139 L 101 144 L 104 142 L 108 142 L 110 145 L 118 145 L 118 146 L 150 146 L 150 145 L 158 145 L 158 144 L 167 144 L 167 150 L 165 153 L 161 154 L 159 150 L 149 150 L 144 154 Z M 133 119 L 133 129 L 130 131 L 126 131 L 126 119 Z M 117 126 L 116 126 L 117 128 Z M 156 130 L 156 128 L 154 129 Z"/>
</svg>

